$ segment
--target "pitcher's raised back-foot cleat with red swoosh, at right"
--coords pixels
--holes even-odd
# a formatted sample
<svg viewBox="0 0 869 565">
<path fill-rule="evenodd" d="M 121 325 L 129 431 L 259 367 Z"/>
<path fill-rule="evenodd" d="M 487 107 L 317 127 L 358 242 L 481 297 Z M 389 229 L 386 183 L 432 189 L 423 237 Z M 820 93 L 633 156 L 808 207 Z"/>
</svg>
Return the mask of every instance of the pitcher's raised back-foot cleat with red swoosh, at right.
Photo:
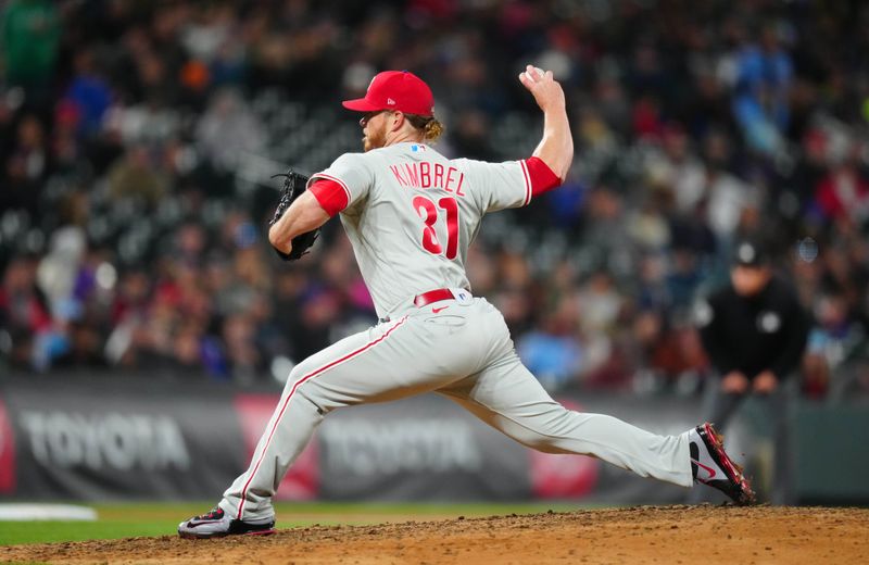
<svg viewBox="0 0 869 565">
<path fill-rule="evenodd" d="M 723 437 L 708 422 L 694 429 L 697 440 L 692 440 L 691 469 L 694 480 L 720 490 L 735 504 L 747 506 L 756 502 L 742 467 L 728 456 Z"/>
</svg>

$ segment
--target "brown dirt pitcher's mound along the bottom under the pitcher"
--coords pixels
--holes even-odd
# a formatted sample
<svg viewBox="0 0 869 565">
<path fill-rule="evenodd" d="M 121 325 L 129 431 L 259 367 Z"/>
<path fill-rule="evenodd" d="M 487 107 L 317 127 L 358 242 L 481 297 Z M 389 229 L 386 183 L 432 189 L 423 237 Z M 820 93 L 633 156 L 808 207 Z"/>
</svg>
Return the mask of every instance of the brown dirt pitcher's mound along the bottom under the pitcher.
<svg viewBox="0 0 869 565">
<path fill-rule="evenodd" d="M 0 548 L 49 563 L 869 563 L 869 510 L 640 506 Z"/>
</svg>

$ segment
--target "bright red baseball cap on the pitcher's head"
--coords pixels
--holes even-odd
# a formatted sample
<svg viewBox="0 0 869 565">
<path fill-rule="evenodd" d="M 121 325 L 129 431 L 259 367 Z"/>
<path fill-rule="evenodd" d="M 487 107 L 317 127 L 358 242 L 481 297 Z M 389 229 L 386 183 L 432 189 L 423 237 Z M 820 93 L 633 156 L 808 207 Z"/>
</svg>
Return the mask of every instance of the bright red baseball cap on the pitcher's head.
<svg viewBox="0 0 869 565">
<path fill-rule="evenodd" d="M 418 76 L 407 71 L 383 71 L 368 85 L 365 98 L 344 100 L 343 106 L 356 112 L 398 110 L 405 114 L 429 117 L 434 112 L 431 89 Z"/>
</svg>

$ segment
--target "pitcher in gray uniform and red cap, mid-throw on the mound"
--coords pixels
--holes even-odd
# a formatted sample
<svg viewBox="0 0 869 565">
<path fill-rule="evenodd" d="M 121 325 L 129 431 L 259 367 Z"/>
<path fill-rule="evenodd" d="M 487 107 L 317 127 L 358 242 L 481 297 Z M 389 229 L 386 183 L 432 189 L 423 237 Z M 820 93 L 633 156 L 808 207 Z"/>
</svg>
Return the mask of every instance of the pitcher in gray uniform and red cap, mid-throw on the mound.
<svg viewBox="0 0 869 565">
<path fill-rule="evenodd" d="M 181 537 L 273 532 L 272 497 L 327 414 L 429 391 L 530 448 L 592 455 L 643 477 L 703 482 L 738 504 L 753 502 L 709 424 L 658 436 L 552 400 L 521 364 L 501 313 L 471 293 L 465 261 L 482 216 L 558 187 L 574 158 L 552 72 L 528 65 L 519 80 L 543 112 L 543 137 L 531 156 L 506 163 L 436 151 L 430 143 L 443 128 L 431 90 L 412 73 L 380 73 L 364 98 L 343 103 L 362 113 L 364 152 L 339 156 L 282 198 L 268 238 L 281 256 L 298 259 L 340 215 L 380 321 L 292 371 L 250 467 L 211 512 L 178 526 Z"/>
</svg>

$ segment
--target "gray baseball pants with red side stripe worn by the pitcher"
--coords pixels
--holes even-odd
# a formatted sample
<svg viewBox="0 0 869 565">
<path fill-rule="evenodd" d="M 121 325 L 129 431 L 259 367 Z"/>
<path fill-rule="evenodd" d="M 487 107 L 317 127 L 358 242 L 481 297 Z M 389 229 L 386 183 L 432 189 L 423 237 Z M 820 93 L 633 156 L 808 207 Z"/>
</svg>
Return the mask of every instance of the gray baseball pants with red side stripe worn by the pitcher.
<svg viewBox="0 0 869 565">
<path fill-rule="evenodd" d="M 272 497 L 332 410 L 438 391 L 516 441 L 591 455 L 642 477 L 692 486 L 688 434 L 658 436 L 602 414 L 572 412 L 521 364 L 501 313 L 481 298 L 411 301 L 378 324 L 300 363 L 253 453 L 219 506 L 239 519 L 274 515 Z"/>
</svg>

